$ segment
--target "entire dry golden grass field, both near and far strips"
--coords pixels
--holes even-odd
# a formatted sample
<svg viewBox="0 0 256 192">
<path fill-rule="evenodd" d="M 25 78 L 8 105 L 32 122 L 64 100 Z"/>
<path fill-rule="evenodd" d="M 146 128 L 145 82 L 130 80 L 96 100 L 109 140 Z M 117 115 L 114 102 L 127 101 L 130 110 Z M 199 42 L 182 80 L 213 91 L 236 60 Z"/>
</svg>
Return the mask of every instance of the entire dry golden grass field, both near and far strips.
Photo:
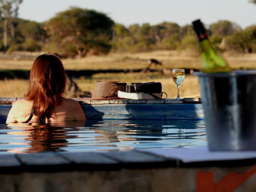
<svg viewBox="0 0 256 192">
<path fill-rule="evenodd" d="M 30 70 L 34 59 L 43 54 L 42 52 L 14 52 L 11 55 L 0 54 L 1 69 L 24 69 Z M 224 58 L 233 69 L 255 68 L 256 54 L 225 53 Z M 150 58 L 162 62 L 162 66 L 152 66 L 152 68 L 194 68 L 200 69 L 200 57 L 190 56 L 186 52 L 160 50 L 143 53 L 110 53 L 106 56 L 88 56 L 79 59 L 62 59 L 66 70 L 108 70 L 108 69 L 142 69 L 148 66 Z M 118 74 L 94 74 L 89 79 L 81 77 L 74 81 L 84 91 L 93 92 L 96 80 L 118 80 L 130 84 L 131 82 L 162 83 L 162 91 L 168 94 L 168 98 L 176 98 L 177 86 L 172 81 L 171 76 L 160 73 L 118 73 Z M 0 97 L 22 97 L 27 89 L 29 80 L 0 80 Z M 199 94 L 198 79 L 192 75 L 186 75 L 184 82 L 180 86 L 181 97 L 193 97 Z"/>
</svg>

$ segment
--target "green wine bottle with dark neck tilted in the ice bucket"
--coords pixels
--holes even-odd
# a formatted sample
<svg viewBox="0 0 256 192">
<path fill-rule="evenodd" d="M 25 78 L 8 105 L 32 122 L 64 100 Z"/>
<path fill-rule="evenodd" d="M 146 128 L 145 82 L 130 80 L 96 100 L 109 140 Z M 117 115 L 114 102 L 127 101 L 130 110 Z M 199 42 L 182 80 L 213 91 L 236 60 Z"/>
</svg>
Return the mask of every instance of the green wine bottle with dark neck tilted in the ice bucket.
<svg viewBox="0 0 256 192">
<path fill-rule="evenodd" d="M 212 47 L 208 35 L 200 20 L 192 22 L 196 32 L 202 58 L 202 71 L 206 73 L 231 72 L 230 66 Z"/>
</svg>

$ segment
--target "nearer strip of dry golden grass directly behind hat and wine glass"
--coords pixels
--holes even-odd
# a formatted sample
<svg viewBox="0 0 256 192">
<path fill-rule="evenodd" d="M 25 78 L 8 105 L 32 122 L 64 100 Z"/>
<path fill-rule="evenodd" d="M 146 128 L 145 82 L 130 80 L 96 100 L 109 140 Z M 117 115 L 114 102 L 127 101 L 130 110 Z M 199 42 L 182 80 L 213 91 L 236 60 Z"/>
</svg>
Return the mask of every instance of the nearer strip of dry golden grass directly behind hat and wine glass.
<svg viewBox="0 0 256 192">
<path fill-rule="evenodd" d="M 158 77 L 150 78 L 149 76 L 138 76 L 133 74 L 132 76 L 126 77 L 124 74 L 111 74 L 110 76 L 98 75 L 92 79 L 80 78 L 74 81 L 77 85 L 84 91 L 93 92 L 96 80 L 117 80 L 123 81 L 127 84 L 131 82 L 161 82 L 162 91 L 168 94 L 168 98 L 176 98 L 177 96 L 177 86 L 174 84 L 172 77 Z M 123 75 L 123 77 L 122 77 Z M 0 97 L 22 97 L 24 92 L 28 88 L 29 80 L 0 80 Z M 199 94 L 198 89 L 198 79 L 196 76 L 188 75 L 185 77 L 184 82 L 180 86 L 180 97 L 195 97 Z M 197 96 L 199 97 L 199 96 Z"/>
</svg>

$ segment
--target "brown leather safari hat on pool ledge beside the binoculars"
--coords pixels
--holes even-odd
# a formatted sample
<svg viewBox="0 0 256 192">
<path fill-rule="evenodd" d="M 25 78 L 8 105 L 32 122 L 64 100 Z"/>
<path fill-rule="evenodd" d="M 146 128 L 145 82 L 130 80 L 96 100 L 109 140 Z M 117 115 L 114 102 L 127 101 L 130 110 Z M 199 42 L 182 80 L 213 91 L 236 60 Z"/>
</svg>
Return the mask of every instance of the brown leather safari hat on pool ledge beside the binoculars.
<svg viewBox="0 0 256 192">
<path fill-rule="evenodd" d="M 80 95 L 84 100 L 124 99 L 118 97 L 118 91 L 125 92 L 126 83 L 119 81 L 96 81 L 92 97 Z"/>
</svg>

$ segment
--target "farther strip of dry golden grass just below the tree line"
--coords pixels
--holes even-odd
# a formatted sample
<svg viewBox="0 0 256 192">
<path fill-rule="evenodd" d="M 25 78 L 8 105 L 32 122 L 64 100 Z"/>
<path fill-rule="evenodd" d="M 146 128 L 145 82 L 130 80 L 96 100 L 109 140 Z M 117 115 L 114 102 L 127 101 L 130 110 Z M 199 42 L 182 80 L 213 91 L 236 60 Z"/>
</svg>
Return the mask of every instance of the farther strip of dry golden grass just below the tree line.
<svg viewBox="0 0 256 192">
<path fill-rule="evenodd" d="M 43 52 L 14 52 L 11 55 L 0 53 L 1 69 L 30 70 L 34 59 Z M 256 54 L 239 54 L 228 52 L 223 54 L 234 69 L 256 68 Z M 103 56 L 87 56 L 79 59 L 62 59 L 66 70 L 107 70 L 107 69 L 140 69 L 148 65 L 154 58 L 162 62 L 158 68 L 194 68 L 200 69 L 199 56 L 191 56 L 189 52 L 159 50 L 140 53 L 110 53 Z M 154 66 L 153 66 L 154 68 Z"/>
</svg>

